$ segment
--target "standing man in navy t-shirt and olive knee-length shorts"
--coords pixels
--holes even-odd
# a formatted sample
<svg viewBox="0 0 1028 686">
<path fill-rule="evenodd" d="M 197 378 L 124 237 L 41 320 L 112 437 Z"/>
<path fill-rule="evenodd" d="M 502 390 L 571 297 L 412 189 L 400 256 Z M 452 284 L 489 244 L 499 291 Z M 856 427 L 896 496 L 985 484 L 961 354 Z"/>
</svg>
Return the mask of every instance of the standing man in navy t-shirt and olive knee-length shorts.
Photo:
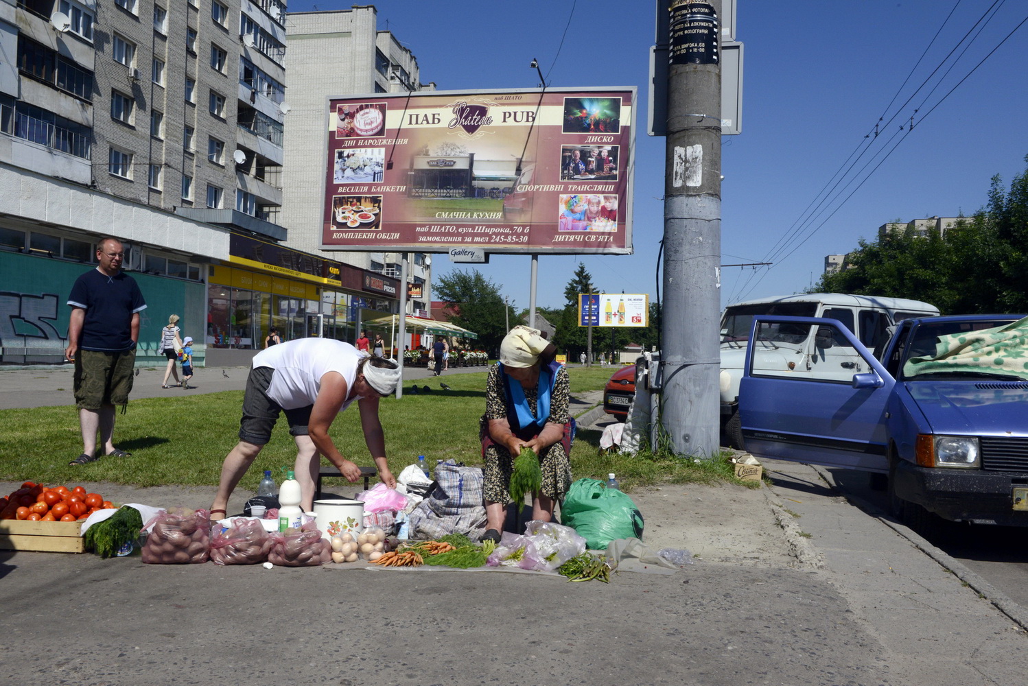
<svg viewBox="0 0 1028 686">
<path fill-rule="evenodd" d="M 75 405 L 82 433 L 82 454 L 69 462 L 80 465 L 101 456 L 130 457 L 114 447 L 114 407 L 128 406 L 139 313 L 146 301 L 136 280 L 121 271 L 124 247 L 117 238 L 97 242 L 97 268 L 75 279 L 68 296 L 71 317 L 65 356 L 75 363 Z M 97 433 L 100 433 L 100 454 Z"/>
</svg>

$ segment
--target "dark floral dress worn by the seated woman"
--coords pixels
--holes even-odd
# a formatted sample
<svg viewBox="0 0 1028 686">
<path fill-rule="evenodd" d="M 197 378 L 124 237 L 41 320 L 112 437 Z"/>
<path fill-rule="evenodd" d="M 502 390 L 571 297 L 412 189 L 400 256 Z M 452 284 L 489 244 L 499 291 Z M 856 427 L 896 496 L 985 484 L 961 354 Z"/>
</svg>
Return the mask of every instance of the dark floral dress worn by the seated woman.
<svg viewBox="0 0 1028 686">
<path fill-rule="evenodd" d="M 510 451 L 505 446 L 484 440 L 489 435 L 489 420 L 507 417 L 507 394 L 504 392 L 504 384 L 500 375 L 501 372 L 498 365 L 489 368 L 489 375 L 485 382 L 485 414 L 482 415 L 480 429 L 483 436 L 483 446 L 485 446 L 482 454 L 484 461 L 483 471 L 485 472 L 485 485 L 483 488 L 485 499 L 506 505 L 511 502 L 508 489 L 511 483 L 511 471 L 513 470 L 514 461 Z M 517 383 L 513 379 L 510 382 Z M 524 397 L 528 403 L 528 408 L 531 410 L 533 415 L 536 414 L 538 395 L 538 388 L 524 389 Z M 568 414 L 570 401 L 571 381 L 567 377 L 567 370 L 561 367 L 557 371 L 553 392 L 550 394 L 550 416 L 547 421 L 557 424 L 567 424 L 571 421 Z M 534 428 L 515 431 L 514 433 L 527 440 L 534 435 L 538 435 L 541 430 L 542 427 L 537 425 Z M 543 495 L 557 501 L 562 501 L 572 483 L 572 463 L 567 451 L 564 449 L 564 443 L 558 441 L 543 450 L 543 454 L 540 455 L 540 468 L 543 472 L 543 485 L 541 488 Z"/>
</svg>

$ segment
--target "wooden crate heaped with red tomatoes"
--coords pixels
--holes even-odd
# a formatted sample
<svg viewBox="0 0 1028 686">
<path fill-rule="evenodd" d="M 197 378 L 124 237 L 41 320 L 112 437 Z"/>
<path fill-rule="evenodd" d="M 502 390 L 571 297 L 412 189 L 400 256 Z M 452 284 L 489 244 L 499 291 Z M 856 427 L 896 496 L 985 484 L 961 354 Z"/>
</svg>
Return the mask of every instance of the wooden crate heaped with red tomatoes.
<svg viewBox="0 0 1028 686">
<path fill-rule="evenodd" d="M 47 487 L 26 482 L 0 498 L 0 549 L 83 552 L 82 520 L 113 508 L 99 493 L 81 486 Z"/>
</svg>

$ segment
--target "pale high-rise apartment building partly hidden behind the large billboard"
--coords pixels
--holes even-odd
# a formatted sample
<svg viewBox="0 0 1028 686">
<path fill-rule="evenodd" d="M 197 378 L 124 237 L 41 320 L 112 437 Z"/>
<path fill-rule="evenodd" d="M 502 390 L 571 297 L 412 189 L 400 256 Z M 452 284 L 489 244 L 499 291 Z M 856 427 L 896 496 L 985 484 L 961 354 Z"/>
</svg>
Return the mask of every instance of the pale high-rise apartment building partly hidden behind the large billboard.
<svg viewBox="0 0 1028 686">
<path fill-rule="evenodd" d="M 378 31 L 373 5 L 334 11 L 291 12 L 286 22 L 290 61 L 303 65 L 286 76 L 290 114 L 286 118 L 286 163 L 282 224 L 286 244 L 319 253 L 322 226 L 322 179 L 327 160 L 326 98 L 434 90 L 421 83 L 417 60 L 390 31 Z M 398 278 L 399 253 L 332 253 L 333 259 Z M 408 313 L 428 316 L 432 258 L 409 254 Z"/>
</svg>

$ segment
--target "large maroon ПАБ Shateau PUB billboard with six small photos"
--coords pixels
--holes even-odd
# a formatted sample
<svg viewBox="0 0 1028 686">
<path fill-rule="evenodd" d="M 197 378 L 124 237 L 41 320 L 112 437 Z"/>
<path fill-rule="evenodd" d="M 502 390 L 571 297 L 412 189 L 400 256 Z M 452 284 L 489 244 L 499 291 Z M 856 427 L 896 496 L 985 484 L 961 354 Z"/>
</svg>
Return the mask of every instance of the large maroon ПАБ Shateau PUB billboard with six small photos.
<svg viewBox="0 0 1028 686">
<path fill-rule="evenodd" d="M 635 88 L 329 98 L 323 250 L 631 254 Z"/>
</svg>

